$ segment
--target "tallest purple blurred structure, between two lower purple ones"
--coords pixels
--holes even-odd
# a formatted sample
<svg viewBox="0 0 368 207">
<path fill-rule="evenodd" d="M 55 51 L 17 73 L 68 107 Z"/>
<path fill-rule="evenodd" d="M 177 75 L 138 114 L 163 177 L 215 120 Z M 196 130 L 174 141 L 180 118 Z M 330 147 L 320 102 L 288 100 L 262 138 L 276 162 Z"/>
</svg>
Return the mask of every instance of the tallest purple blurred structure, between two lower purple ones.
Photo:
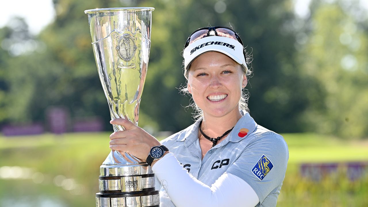
<svg viewBox="0 0 368 207">
<path fill-rule="evenodd" d="M 68 131 L 69 112 L 66 108 L 52 106 L 46 110 L 50 132 L 62 134 Z"/>
</svg>

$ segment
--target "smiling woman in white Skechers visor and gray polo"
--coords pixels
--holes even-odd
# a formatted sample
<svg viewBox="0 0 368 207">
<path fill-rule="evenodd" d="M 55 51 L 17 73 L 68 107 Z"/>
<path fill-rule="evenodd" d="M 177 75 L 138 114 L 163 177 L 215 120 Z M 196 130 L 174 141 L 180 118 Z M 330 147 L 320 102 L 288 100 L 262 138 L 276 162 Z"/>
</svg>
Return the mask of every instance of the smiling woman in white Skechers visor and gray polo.
<svg viewBox="0 0 368 207">
<path fill-rule="evenodd" d="M 246 54 L 233 29 L 197 29 L 184 49 L 197 121 L 161 143 L 128 120 L 110 122 L 126 129 L 111 134 L 110 148 L 152 166 L 160 206 L 276 206 L 289 152 L 282 136 L 247 112 Z"/>
</svg>

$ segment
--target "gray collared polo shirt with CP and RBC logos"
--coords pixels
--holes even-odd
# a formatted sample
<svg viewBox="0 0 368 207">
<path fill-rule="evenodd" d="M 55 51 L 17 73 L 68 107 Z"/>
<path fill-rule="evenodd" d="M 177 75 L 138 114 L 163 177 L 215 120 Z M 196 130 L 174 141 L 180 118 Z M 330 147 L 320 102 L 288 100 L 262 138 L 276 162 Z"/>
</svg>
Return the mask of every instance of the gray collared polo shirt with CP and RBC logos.
<svg viewBox="0 0 368 207">
<path fill-rule="evenodd" d="M 203 159 L 198 139 L 201 120 L 161 143 L 204 184 L 211 186 L 224 172 L 231 173 L 247 182 L 256 192 L 260 201 L 257 207 L 276 206 L 289 159 L 287 144 L 281 135 L 256 124 L 248 112 L 241 113 L 243 117 L 230 134 L 212 147 Z M 159 187 L 159 180 L 156 179 L 156 183 Z M 160 206 L 175 206 L 163 187 Z"/>
</svg>

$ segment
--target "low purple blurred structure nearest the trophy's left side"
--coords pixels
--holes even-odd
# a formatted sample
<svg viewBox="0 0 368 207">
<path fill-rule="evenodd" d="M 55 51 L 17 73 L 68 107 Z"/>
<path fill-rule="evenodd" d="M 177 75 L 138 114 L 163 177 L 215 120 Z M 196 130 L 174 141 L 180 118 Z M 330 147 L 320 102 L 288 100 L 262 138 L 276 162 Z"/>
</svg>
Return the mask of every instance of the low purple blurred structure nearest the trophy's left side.
<svg viewBox="0 0 368 207">
<path fill-rule="evenodd" d="M 103 124 L 99 117 L 76 118 L 76 121 L 74 121 L 73 124 L 73 131 L 75 132 L 102 130 Z"/>
</svg>

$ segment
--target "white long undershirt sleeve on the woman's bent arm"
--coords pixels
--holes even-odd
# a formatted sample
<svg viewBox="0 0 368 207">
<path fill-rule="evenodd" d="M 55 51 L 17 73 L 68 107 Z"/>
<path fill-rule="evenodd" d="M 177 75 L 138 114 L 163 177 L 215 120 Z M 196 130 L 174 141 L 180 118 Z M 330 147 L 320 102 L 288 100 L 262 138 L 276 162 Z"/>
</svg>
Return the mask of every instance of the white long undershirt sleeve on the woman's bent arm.
<svg viewBox="0 0 368 207">
<path fill-rule="evenodd" d="M 259 203 L 252 187 L 238 176 L 225 172 L 210 187 L 188 173 L 173 153 L 157 161 L 152 170 L 176 207 L 254 207 Z"/>
</svg>

